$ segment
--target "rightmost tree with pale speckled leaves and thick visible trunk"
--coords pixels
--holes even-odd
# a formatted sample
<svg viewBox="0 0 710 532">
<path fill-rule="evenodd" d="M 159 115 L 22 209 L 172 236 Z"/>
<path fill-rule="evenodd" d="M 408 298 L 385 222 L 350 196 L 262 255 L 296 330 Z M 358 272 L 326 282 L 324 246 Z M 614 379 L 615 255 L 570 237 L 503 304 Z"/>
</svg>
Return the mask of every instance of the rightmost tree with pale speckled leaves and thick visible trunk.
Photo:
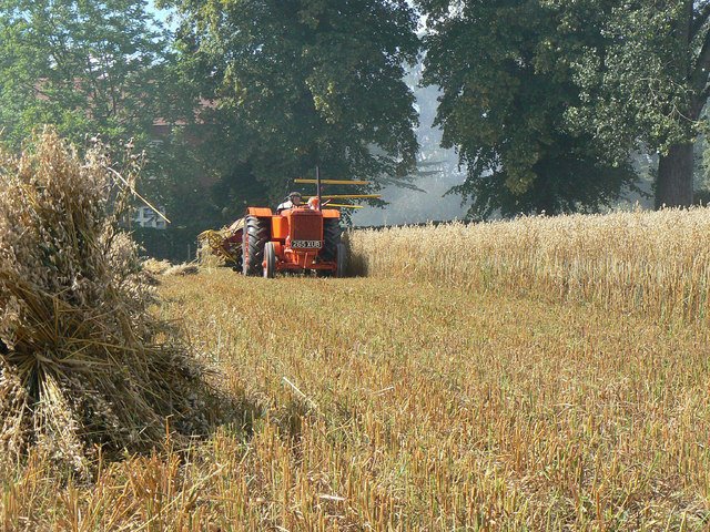
<svg viewBox="0 0 710 532">
<path fill-rule="evenodd" d="M 555 45 L 581 88 L 568 112 L 619 161 L 630 150 L 660 154 L 657 206 L 693 196 L 693 141 L 710 94 L 708 0 L 550 0 Z"/>
</svg>

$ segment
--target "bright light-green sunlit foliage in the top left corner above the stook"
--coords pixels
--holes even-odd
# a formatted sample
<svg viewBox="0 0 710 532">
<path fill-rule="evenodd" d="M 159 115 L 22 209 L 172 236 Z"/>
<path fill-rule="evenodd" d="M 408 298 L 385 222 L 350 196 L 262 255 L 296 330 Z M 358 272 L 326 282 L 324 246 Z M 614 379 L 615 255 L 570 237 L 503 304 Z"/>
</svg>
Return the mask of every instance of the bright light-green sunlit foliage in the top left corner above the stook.
<svg viewBox="0 0 710 532">
<path fill-rule="evenodd" d="M 79 143 L 144 137 L 164 93 L 165 50 L 143 0 L 2 0 L 3 141 L 19 146 L 48 123 Z"/>
</svg>

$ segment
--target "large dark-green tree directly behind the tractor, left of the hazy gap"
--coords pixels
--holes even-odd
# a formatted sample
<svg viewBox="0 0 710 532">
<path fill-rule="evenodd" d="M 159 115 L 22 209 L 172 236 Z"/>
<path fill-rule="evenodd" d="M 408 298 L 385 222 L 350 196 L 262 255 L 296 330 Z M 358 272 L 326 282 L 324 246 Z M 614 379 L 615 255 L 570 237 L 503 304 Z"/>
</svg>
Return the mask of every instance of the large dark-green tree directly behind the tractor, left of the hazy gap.
<svg viewBox="0 0 710 532">
<path fill-rule="evenodd" d="M 274 198 L 316 165 L 379 183 L 414 168 L 417 116 L 403 76 L 419 41 L 405 0 L 164 3 L 178 8 L 185 64 L 216 105 L 205 113 L 215 149 L 240 168 L 227 177 L 256 178 Z"/>
</svg>

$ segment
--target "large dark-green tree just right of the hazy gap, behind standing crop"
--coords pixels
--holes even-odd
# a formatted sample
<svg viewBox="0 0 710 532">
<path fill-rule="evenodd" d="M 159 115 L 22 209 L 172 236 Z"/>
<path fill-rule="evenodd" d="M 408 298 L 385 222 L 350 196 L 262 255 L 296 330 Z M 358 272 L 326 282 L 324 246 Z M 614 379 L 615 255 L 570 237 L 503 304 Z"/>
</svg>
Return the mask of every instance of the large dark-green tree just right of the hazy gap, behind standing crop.
<svg viewBox="0 0 710 532">
<path fill-rule="evenodd" d="M 419 0 L 427 16 L 424 82 L 442 90 L 436 123 L 467 178 L 470 214 L 556 214 L 610 204 L 635 181 L 587 132 L 570 132 L 571 71 L 548 47 L 552 12 L 539 0 Z"/>
</svg>

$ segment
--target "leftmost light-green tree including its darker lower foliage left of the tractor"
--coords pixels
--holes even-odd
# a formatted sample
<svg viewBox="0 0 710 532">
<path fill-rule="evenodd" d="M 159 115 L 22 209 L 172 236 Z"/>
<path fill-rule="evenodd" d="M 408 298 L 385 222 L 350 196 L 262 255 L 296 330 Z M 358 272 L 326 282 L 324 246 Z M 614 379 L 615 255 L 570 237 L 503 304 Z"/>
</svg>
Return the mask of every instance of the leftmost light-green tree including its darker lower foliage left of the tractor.
<svg viewBox="0 0 710 532">
<path fill-rule="evenodd" d="M 144 0 L 0 0 L 0 142 L 19 149 L 43 124 L 80 146 L 132 139 L 148 154 L 139 187 L 175 225 L 210 214 L 194 92 Z"/>
</svg>

